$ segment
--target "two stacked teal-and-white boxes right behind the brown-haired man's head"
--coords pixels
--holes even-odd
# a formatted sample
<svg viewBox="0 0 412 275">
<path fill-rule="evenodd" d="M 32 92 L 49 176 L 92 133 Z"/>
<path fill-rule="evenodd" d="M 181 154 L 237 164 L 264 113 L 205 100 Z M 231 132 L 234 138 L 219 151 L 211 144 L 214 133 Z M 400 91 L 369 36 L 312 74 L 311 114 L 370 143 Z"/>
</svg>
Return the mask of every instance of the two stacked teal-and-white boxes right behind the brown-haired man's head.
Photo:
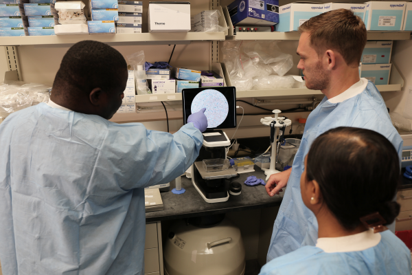
<svg viewBox="0 0 412 275">
<path fill-rule="evenodd" d="M 361 58 L 361 77 L 375 85 L 388 85 L 393 41 L 367 41 Z"/>
</svg>

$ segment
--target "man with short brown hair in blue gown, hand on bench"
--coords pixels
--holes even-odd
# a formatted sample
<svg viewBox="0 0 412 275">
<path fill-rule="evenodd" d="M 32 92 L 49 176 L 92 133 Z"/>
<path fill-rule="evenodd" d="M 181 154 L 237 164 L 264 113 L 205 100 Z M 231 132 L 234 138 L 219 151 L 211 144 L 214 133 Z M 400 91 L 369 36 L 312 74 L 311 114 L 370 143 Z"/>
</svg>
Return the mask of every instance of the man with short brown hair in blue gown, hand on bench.
<svg viewBox="0 0 412 275">
<path fill-rule="evenodd" d="M 267 261 L 316 244 L 317 220 L 300 192 L 304 159 L 316 137 L 338 126 L 365 128 L 381 133 L 399 154 L 402 151 L 402 138 L 382 96 L 373 83 L 359 78 L 358 64 L 367 40 L 362 19 L 351 10 L 332 10 L 312 17 L 299 32 L 297 67 L 304 73 L 306 87 L 321 90 L 325 98 L 308 117 L 292 168 L 271 175 L 266 184 L 270 196 L 288 186 L 273 226 Z"/>
</svg>

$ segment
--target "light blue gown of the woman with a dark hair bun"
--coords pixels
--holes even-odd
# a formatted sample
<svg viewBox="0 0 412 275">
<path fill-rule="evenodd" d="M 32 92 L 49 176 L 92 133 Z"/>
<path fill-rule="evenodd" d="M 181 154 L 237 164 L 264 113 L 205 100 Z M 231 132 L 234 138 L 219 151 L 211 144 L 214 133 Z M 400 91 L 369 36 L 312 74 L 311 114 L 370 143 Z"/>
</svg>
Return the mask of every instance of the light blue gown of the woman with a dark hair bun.
<svg viewBox="0 0 412 275">
<path fill-rule="evenodd" d="M 311 245 L 274 259 L 260 275 L 410 275 L 411 253 L 389 230 L 378 245 L 356 252 L 325 253 Z"/>
</svg>

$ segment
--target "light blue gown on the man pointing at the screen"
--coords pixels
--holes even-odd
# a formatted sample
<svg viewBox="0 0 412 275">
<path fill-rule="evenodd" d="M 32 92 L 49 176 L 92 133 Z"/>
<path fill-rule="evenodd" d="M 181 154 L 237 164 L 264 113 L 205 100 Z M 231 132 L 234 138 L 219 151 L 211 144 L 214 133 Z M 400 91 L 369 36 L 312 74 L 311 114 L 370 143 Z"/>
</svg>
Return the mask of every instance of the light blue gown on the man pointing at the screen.
<svg viewBox="0 0 412 275">
<path fill-rule="evenodd" d="M 3 274 L 144 274 L 144 187 L 182 175 L 203 142 L 41 103 L 0 124 Z"/>
</svg>

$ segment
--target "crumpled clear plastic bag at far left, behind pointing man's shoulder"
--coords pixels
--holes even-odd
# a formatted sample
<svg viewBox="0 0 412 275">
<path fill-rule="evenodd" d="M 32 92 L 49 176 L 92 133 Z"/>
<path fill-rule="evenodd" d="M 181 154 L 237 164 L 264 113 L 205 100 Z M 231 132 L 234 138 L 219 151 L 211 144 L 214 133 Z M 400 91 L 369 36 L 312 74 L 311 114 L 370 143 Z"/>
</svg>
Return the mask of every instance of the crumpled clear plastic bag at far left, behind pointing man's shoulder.
<svg viewBox="0 0 412 275">
<path fill-rule="evenodd" d="M 7 118 L 10 113 L 48 102 L 51 88 L 38 83 L 25 84 L 16 81 L 0 85 L 0 118 Z"/>
</svg>

